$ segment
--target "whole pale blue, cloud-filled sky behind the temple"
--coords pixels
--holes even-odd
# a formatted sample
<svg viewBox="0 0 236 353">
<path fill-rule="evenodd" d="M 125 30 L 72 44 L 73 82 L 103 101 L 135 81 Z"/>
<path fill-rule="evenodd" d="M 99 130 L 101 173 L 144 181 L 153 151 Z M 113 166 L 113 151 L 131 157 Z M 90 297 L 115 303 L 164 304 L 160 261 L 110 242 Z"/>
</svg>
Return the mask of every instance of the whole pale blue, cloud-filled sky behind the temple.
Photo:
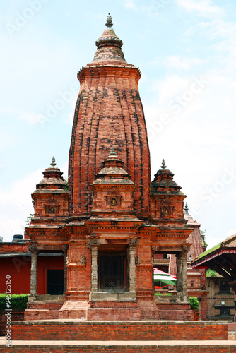
<svg viewBox="0 0 236 353">
<path fill-rule="evenodd" d="M 236 232 L 236 4 L 8 0 L 1 4 L 0 236 L 23 233 L 54 155 L 67 175 L 76 73 L 107 13 L 141 69 L 153 174 L 165 158 L 209 246 Z"/>
</svg>

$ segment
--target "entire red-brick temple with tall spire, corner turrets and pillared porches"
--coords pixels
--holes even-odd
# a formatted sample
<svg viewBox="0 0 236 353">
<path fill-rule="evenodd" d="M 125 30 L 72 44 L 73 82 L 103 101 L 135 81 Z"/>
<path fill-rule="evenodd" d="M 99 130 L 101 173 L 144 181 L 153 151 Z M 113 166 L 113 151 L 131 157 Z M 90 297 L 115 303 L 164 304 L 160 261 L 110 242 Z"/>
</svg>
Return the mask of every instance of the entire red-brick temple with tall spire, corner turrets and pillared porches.
<svg viewBox="0 0 236 353">
<path fill-rule="evenodd" d="M 151 183 L 138 93 L 141 73 L 127 64 L 122 40 L 112 26 L 109 14 L 93 61 L 78 73 L 81 89 L 69 152 L 69 192 L 64 181 L 53 177 L 59 191 L 50 192 L 57 195 L 33 194 L 37 215 L 25 230 L 32 253 L 28 317 L 39 300 L 37 256 L 53 252 L 64 254 L 65 280 L 64 304 L 52 318 L 191 319 L 187 238 L 192 229 L 184 219 L 185 196 L 165 161 Z M 177 294 L 170 305 L 163 306 L 153 295 L 157 253 L 176 255 Z M 37 318 L 45 318 L 40 315 L 37 312 Z"/>
</svg>

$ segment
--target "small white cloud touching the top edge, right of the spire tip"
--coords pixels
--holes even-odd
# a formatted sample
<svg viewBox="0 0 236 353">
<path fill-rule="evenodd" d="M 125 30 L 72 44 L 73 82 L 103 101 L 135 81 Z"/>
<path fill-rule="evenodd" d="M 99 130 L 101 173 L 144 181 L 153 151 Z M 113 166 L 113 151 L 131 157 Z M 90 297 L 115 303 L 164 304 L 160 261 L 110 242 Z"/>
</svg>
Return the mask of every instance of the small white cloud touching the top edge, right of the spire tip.
<svg viewBox="0 0 236 353">
<path fill-rule="evenodd" d="M 225 12 L 223 8 L 213 5 L 211 0 L 176 0 L 176 3 L 186 11 L 196 11 L 201 16 L 221 17 Z"/>
</svg>

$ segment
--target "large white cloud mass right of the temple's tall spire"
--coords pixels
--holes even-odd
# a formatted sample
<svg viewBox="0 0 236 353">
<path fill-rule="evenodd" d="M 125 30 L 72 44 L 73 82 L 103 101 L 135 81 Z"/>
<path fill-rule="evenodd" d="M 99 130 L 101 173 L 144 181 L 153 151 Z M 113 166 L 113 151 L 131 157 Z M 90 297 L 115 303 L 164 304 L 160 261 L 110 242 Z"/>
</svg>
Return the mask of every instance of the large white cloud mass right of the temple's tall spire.
<svg viewBox="0 0 236 353">
<path fill-rule="evenodd" d="M 228 66 L 230 69 L 235 67 L 232 57 L 221 59 L 221 55 L 216 54 L 211 68 L 202 71 L 207 81 L 205 87 L 178 114 L 168 107 L 168 103 L 189 90 L 193 80 L 191 75 L 184 77 L 169 73 L 162 80 L 156 80 L 152 87 L 157 93 L 155 103 L 145 107 L 152 176 L 164 158 L 167 167 L 175 174 L 174 180 L 183 186 L 189 208 L 194 206 L 191 212 L 194 219 L 207 229 L 209 248 L 225 239 L 225 225 L 228 229 L 234 227 L 232 215 L 223 212 L 222 204 L 235 203 L 236 178 L 223 184 L 223 192 L 219 192 L 225 168 L 236 169 L 232 158 L 236 150 L 236 83 Z M 162 114 L 169 119 L 162 121 Z M 157 160 L 156 156 L 160 159 Z M 216 191 L 216 197 L 207 203 L 209 189 Z M 223 222 L 218 224 L 218 220 Z M 219 234 L 222 236 L 218 237 Z"/>
</svg>

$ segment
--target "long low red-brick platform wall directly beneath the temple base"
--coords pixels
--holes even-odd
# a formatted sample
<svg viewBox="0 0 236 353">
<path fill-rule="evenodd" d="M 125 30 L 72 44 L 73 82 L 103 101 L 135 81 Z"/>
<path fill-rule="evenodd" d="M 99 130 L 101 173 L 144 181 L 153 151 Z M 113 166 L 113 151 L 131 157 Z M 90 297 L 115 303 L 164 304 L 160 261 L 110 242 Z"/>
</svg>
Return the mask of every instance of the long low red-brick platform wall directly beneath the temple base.
<svg viewBox="0 0 236 353">
<path fill-rule="evenodd" d="M 228 340 L 227 323 L 18 322 L 13 340 Z"/>
</svg>

